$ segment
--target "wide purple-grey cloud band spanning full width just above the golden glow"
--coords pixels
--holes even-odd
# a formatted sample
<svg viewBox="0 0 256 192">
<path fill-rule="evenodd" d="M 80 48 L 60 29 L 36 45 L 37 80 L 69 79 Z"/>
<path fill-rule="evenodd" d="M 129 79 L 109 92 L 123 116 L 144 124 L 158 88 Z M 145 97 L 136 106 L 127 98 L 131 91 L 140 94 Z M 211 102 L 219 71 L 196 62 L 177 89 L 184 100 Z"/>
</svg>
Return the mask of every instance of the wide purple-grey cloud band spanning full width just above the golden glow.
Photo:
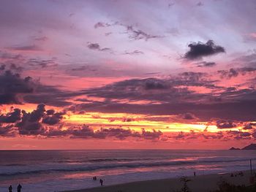
<svg viewBox="0 0 256 192">
<path fill-rule="evenodd" d="M 2 68 L 5 69 L 6 66 Z M 243 72 L 252 73 L 254 70 L 241 68 L 238 72 L 241 74 Z M 255 120 L 256 91 L 254 88 L 218 87 L 214 85 L 217 81 L 208 80 L 208 74 L 202 72 L 183 72 L 176 77 L 168 77 L 167 79 L 130 79 L 80 91 L 64 91 L 55 86 L 41 85 L 39 82 L 31 80 L 30 77 L 22 78 L 20 74 L 13 74 L 12 72 L 1 71 L 0 74 L 0 79 L 2 79 L 0 81 L 1 91 L 7 90 L 6 93 L 9 93 L 7 98 L 14 98 L 9 103 L 44 103 L 56 107 L 67 107 L 67 110 L 76 113 L 85 111 L 131 112 L 151 115 L 191 113 L 199 120 L 211 118 Z M 10 77 L 11 80 L 7 80 L 7 77 Z M 5 85 L 7 82 L 10 84 Z M 19 91 L 23 89 L 15 87 L 23 88 L 21 85 L 30 88 L 29 91 Z M 197 93 L 189 89 L 189 86 L 208 88 L 212 90 L 212 93 Z M 14 88 L 14 92 L 12 88 Z M 213 95 L 215 91 L 217 92 L 216 96 Z M 0 95 L 3 96 L 3 94 Z M 14 97 L 9 95 L 14 95 Z M 78 104 L 72 104 L 70 100 L 75 96 L 86 96 L 87 99 L 76 102 Z M 91 100 L 90 97 L 101 100 Z M 124 99 L 127 101 L 126 103 L 122 101 Z M 0 101 L 4 100 L 1 99 Z M 239 109 L 240 112 L 236 109 Z M 208 112 L 206 113 L 206 111 Z M 49 115 L 44 122 L 55 123 L 59 122 L 59 119 L 55 115 L 53 117 Z"/>
</svg>

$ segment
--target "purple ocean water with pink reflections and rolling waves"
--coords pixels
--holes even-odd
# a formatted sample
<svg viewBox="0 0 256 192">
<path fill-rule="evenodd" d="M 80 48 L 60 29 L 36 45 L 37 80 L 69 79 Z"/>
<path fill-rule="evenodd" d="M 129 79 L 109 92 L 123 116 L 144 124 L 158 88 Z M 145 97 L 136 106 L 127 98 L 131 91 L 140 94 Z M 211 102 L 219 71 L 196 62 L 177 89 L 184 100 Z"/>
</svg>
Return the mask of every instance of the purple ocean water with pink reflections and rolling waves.
<svg viewBox="0 0 256 192">
<path fill-rule="evenodd" d="M 37 150 L 0 151 L 0 191 L 64 191 L 256 167 L 252 150 Z"/>
</svg>

